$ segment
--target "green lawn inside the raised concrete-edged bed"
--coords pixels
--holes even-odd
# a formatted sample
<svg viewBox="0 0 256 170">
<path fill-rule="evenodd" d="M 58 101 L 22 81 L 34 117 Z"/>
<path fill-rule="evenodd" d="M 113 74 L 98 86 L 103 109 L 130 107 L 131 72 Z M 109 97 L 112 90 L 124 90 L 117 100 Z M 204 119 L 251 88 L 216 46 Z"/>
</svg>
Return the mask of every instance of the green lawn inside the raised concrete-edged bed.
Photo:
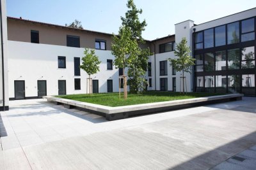
<svg viewBox="0 0 256 170">
<path fill-rule="evenodd" d="M 56 96 L 64 99 L 71 99 L 75 101 L 83 101 L 87 103 L 101 104 L 104 106 L 126 106 L 132 104 L 155 103 L 161 101 L 173 101 L 179 99 L 191 99 L 196 97 L 216 96 L 221 94 L 213 93 L 188 93 L 182 95 L 179 92 L 145 92 L 145 94 L 128 94 L 128 99 L 124 100 L 119 93 L 101 93 L 101 94 L 73 94 L 66 96 Z"/>
</svg>

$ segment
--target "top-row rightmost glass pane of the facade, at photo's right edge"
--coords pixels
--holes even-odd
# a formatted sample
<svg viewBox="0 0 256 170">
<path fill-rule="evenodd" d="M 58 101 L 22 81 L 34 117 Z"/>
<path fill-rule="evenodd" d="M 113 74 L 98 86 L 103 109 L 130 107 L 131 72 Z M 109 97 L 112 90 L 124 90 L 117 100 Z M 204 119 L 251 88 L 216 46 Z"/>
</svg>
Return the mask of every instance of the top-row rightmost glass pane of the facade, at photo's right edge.
<svg viewBox="0 0 256 170">
<path fill-rule="evenodd" d="M 250 18 L 248 20 L 243 20 L 241 22 L 241 41 L 251 41 L 255 39 L 255 32 L 254 32 L 254 18 Z"/>
</svg>

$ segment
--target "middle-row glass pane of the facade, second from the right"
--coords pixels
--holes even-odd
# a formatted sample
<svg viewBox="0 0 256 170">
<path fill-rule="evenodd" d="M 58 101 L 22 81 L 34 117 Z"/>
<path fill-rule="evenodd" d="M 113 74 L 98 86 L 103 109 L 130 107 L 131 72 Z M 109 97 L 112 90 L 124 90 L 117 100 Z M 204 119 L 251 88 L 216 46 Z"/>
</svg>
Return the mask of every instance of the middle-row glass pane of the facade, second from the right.
<svg viewBox="0 0 256 170">
<path fill-rule="evenodd" d="M 228 69 L 239 69 L 240 66 L 240 50 L 228 50 Z"/>
</svg>

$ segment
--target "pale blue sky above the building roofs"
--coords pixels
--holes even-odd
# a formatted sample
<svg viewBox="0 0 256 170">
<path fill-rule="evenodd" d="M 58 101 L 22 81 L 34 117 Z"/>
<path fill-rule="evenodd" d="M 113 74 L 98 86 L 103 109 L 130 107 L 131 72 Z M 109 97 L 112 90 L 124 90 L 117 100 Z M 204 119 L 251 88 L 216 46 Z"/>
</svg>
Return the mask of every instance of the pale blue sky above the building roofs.
<svg viewBox="0 0 256 170">
<path fill-rule="evenodd" d="M 144 39 L 175 34 L 175 26 L 185 20 L 202 24 L 256 7 L 255 0 L 134 0 L 147 22 Z M 81 21 L 84 29 L 118 33 L 120 17 L 128 10 L 127 0 L 6 0 L 7 16 L 56 25 Z"/>
</svg>

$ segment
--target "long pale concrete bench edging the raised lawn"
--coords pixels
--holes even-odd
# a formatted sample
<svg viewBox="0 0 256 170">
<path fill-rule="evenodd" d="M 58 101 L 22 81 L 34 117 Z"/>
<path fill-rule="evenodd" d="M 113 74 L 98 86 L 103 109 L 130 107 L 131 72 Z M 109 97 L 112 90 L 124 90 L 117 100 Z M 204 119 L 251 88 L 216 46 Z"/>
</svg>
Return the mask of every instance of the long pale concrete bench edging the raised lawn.
<svg viewBox="0 0 256 170">
<path fill-rule="evenodd" d="M 55 104 L 63 104 L 65 108 L 77 108 L 78 110 L 88 111 L 106 117 L 107 120 L 118 120 L 128 118 L 134 115 L 142 115 L 147 113 L 157 113 L 161 111 L 177 110 L 204 104 L 222 103 L 227 101 L 241 100 L 243 94 L 226 94 L 221 96 L 198 97 L 194 99 L 182 99 L 175 101 L 163 101 L 157 103 L 135 104 L 129 106 L 103 106 L 99 104 L 86 103 L 81 101 L 73 101 L 54 96 L 44 96 L 49 102 Z"/>
</svg>

